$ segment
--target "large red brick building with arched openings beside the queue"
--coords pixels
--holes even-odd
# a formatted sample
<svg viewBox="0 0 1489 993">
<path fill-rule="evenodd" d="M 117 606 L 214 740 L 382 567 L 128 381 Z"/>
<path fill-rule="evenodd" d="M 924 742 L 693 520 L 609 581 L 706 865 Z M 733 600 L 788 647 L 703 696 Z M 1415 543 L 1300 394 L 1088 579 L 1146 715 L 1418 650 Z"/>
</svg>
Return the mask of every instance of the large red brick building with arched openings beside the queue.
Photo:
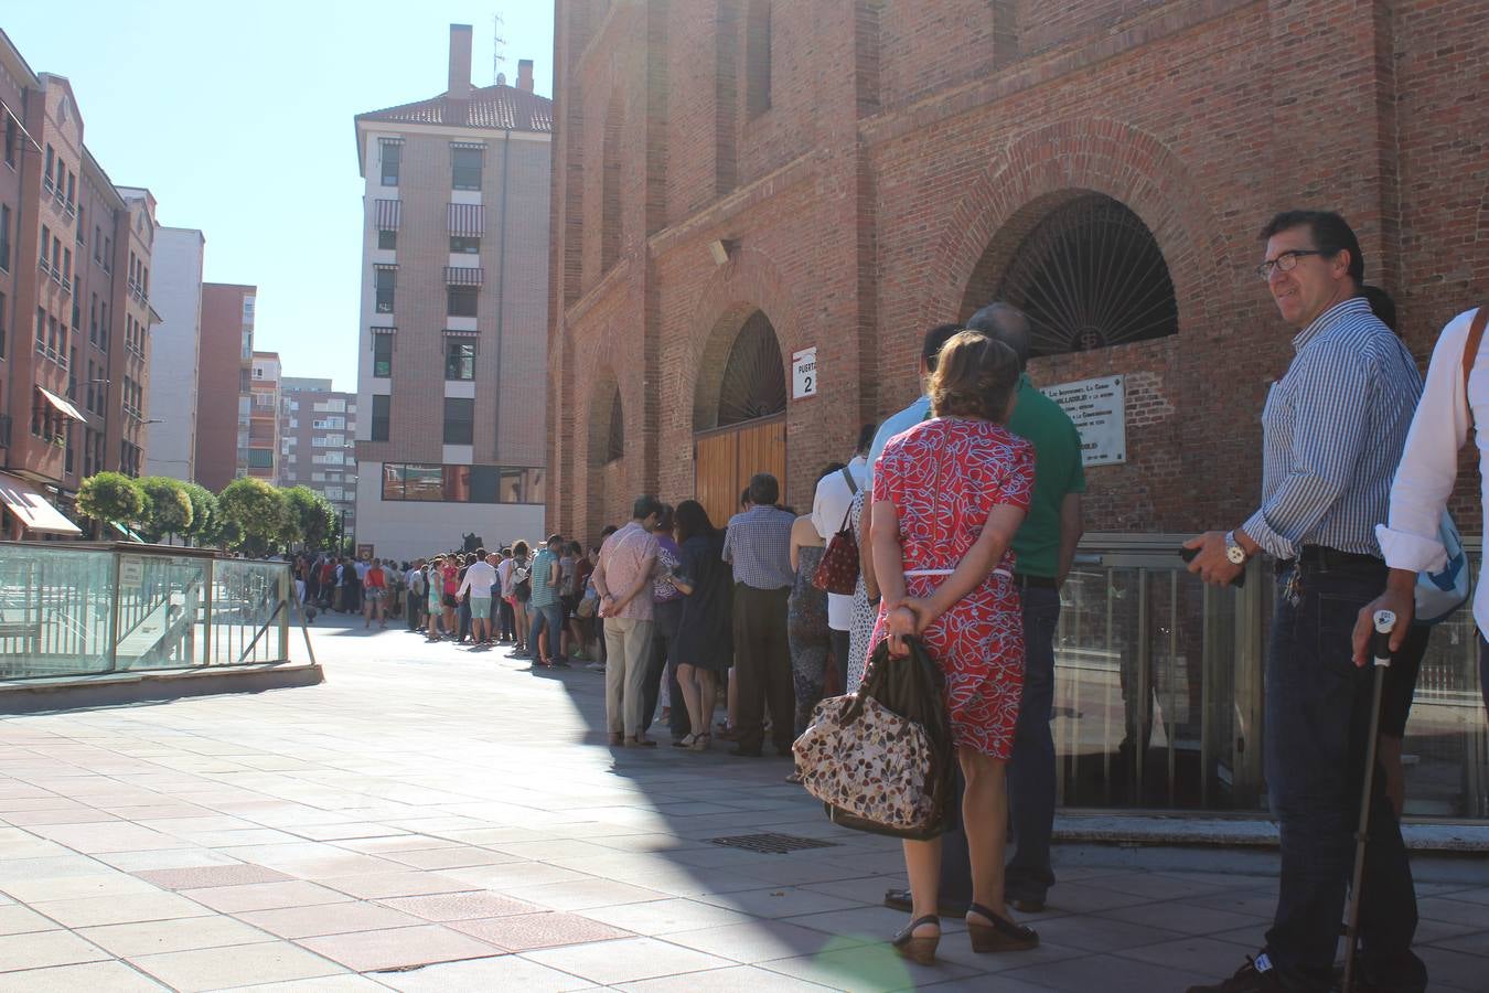
<svg viewBox="0 0 1489 993">
<path fill-rule="evenodd" d="M 549 523 L 783 467 L 804 506 L 995 296 L 1039 384 L 1121 375 L 1091 530 L 1231 526 L 1291 331 L 1278 210 L 1340 210 L 1425 362 L 1489 293 L 1476 0 L 558 0 Z M 792 399 L 792 354 L 820 384 Z"/>
</svg>

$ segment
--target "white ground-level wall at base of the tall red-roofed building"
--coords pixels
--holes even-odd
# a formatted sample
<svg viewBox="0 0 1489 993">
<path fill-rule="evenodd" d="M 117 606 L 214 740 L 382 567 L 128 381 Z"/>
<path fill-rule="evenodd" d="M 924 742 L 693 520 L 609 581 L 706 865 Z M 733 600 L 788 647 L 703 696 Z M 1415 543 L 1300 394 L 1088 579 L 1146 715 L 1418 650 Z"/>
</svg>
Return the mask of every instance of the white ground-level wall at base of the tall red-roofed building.
<svg viewBox="0 0 1489 993">
<path fill-rule="evenodd" d="M 466 534 L 479 534 L 487 548 L 518 539 L 545 539 L 545 509 L 539 503 L 409 503 L 383 499 L 383 463 L 357 466 L 357 543 L 371 542 L 378 557 L 418 558 L 459 548 Z"/>
</svg>

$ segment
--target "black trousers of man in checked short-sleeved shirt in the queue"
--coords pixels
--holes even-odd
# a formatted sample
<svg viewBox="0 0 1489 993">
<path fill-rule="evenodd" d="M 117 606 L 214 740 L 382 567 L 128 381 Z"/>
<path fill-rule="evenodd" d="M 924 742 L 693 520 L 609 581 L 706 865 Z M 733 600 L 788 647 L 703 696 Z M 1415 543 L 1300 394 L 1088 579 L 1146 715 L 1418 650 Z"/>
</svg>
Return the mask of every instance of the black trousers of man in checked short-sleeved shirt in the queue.
<svg viewBox="0 0 1489 993">
<path fill-rule="evenodd" d="M 759 749 L 770 707 L 771 738 L 788 750 L 795 740 L 797 689 L 786 645 L 786 600 L 791 590 L 755 590 L 734 584 L 734 691 L 739 697 L 739 746 Z"/>
</svg>

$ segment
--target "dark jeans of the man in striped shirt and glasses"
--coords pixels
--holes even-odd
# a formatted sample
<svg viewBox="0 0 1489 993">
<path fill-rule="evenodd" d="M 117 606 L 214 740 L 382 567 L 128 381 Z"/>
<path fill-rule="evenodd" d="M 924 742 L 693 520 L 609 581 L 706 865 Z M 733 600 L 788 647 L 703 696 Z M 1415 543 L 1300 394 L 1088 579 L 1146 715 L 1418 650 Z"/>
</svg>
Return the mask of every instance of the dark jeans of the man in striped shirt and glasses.
<svg viewBox="0 0 1489 993">
<path fill-rule="evenodd" d="M 1266 680 L 1267 798 L 1282 841 L 1278 911 L 1267 954 L 1301 990 L 1328 990 L 1355 859 L 1374 674 L 1356 668 L 1359 609 L 1385 587 L 1385 563 L 1279 576 Z M 1361 884 L 1364 971 L 1382 989 L 1412 989 L 1416 890 L 1401 828 L 1376 770 Z"/>
</svg>

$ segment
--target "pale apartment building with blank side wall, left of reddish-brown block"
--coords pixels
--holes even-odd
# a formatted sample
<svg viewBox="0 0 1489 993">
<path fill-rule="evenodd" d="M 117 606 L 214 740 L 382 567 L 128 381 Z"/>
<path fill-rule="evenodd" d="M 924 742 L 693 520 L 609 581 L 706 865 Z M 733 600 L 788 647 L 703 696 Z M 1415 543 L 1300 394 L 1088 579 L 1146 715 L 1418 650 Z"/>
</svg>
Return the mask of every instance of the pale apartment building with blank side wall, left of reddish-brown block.
<svg viewBox="0 0 1489 993">
<path fill-rule="evenodd" d="M 207 238 L 195 228 L 155 232 L 150 336 L 150 423 L 144 470 L 195 479 L 197 371 L 201 360 L 201 265 Z"/>
</svg>

